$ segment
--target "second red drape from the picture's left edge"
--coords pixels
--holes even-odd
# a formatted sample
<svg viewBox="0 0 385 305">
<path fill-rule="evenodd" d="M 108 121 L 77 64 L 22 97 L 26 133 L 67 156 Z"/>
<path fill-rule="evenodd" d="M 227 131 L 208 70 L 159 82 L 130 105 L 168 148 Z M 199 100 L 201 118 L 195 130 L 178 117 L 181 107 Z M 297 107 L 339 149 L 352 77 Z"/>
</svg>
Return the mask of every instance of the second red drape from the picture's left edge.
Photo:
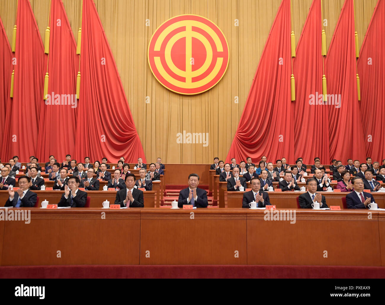
<svg viewBox="0 0 385 305">
<path fill-rule="evenodd" d="M 17 35 L 12 103 L 7 105 L 10 124 L 6 155 L 18 155 L 26 162 L 35 155 L 40 117 L 40 101 L 44 83 L 44 47 L 30 2 L 19 0 L 17 5 Z"/>
</svg>

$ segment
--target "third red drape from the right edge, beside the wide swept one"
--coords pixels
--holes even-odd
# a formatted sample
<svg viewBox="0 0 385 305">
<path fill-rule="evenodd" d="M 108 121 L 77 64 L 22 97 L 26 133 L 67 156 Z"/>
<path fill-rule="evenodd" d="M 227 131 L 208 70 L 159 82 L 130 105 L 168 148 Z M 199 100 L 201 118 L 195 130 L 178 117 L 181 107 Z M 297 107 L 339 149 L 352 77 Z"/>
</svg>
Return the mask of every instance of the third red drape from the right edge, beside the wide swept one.
<svg viewBox="0 0 385 305">
<path fill-rule="evenodd" d="M 328 106 L 313 103 L 322 94 L 321 32 L 321 0 L 313 0 L 293 60 L 295 157 L 302 157 L 305 164 L 313 164 L 315 157 L 321 164 L 330 162 Z"/>
</svg>

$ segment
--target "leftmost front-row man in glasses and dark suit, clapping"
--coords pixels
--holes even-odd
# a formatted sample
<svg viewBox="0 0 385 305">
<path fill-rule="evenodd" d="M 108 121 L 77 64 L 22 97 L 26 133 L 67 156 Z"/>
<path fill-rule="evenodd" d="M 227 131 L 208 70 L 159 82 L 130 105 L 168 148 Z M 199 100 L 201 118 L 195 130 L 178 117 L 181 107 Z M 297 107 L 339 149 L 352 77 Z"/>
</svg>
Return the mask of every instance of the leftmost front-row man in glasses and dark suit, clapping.
<svg viewBox="0 0 385 305">
<path fill-rule="evenodd" d="M 31 192 L 28 187 L 31 185 L 31 179 L 27 176 L 21 176 L 18 179 L 19 189 L 8 189 L 8 200 L 5 202 L 5 207 L 34 207 L 37 200 L 37 195 Z"/>
</svg>

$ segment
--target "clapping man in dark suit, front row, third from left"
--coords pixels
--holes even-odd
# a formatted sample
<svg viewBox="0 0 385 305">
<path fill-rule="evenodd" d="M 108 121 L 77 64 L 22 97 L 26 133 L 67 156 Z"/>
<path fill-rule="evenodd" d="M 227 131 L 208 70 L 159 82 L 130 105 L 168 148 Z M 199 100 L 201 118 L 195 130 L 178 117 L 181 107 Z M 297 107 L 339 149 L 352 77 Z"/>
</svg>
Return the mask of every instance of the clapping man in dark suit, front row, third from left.
<svg viewBox="0 0 385 305">
<path fill-rule="evenodd" d="M 126 175 L 126 188 L 117 191 L 115 204 L 121 207 L 144 207 L 143 192 L 134 187 L 135 180 L 134 174 Z"/>
</svg>

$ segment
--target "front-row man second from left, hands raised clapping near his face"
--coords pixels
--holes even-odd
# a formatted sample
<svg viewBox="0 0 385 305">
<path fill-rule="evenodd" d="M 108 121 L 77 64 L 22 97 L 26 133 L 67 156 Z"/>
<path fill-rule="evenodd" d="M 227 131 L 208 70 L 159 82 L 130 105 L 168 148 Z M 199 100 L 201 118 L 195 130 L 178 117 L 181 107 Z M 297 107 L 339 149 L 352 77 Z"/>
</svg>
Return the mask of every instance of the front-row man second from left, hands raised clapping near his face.
<svg viewBox="0 0 385 305">
<path fill-rule="evenodd" d="M 84 207 L 87 202 L 87 192 L 79 190 L 80 180 L 77 176 L 69 177 L 64 194 L 57 204 L 58 207 Z"/>
</svg>

